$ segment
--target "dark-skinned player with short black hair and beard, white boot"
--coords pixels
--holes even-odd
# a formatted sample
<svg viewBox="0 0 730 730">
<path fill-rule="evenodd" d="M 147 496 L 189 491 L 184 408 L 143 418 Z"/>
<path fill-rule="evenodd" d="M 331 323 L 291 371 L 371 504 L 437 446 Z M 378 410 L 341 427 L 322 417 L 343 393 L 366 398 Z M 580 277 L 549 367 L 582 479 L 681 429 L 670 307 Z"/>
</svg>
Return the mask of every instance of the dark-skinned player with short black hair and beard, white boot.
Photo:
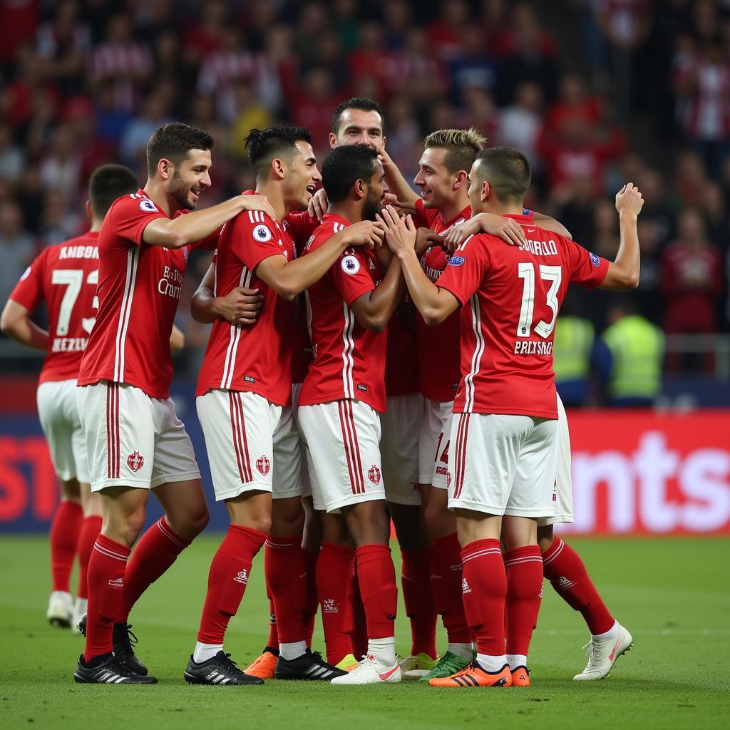
<svg viewBox="0 0 730 730">
<path fill-rule="evenodd" d="M 305 260 L 339 231 L 373 220 L 387 190 L 377 150 L 364 145 L 331 150 L 322 176 L 329 212 Z M 389 235 L 401 234 L 403 225 Z M 404 286 L 398 261 L 383 253 L 346 250 L 307 291 L 315 358 L 299 394 L 299 423 L 312 462 L 312 498 L 315 509 L 337 513 L 355 542 L 368 636 L 366 655 L 333 684 L 399 682 L 402 676 L 378 413 L 385 408 L 385 328 Z"/>
</svg>

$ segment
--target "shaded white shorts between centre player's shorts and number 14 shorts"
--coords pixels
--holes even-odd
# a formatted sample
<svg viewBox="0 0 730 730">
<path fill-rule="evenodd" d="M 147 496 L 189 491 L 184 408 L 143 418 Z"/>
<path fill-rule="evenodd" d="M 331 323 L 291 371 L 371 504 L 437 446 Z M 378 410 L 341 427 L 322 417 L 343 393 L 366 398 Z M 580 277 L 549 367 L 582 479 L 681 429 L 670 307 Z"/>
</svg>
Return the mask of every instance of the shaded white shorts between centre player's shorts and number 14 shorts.
<svg viewBox="0 0 730 730">
<path fill-rule="evenodd" d="M 420 504 L 418 434 L 423 418 L 423 396 L 389 396 L 380 414 L 380 456 L 383 459 L 385 496 L 393 504 Z"/>
</svg>

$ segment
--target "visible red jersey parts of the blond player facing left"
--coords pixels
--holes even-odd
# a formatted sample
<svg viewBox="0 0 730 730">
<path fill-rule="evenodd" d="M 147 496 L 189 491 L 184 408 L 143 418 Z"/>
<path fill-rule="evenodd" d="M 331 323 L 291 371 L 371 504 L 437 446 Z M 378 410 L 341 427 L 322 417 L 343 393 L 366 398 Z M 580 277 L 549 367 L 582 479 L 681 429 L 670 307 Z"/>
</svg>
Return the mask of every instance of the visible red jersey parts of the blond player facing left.
<svg viewBox="0 0 730 730">
<path fill-rule="evenodd" d="M 431 228 L 437 233 L 443 233 L 447 228 L 472 217 L 472 208 L 468 205 L 452 220 L 443 220 L 437 210 L 426 208 L 421 199 L 416 201 L 415 208 L 415 225 L 418 228 Z M 449 255 L 445 250 L 434 246 L 423 255 L 420 265 L 429 279 L 436 282 L 448 261 Z M 420 394 L 434 401 L 453 401 L 461 380 L 458 312 L 454 312 L 435 327 L 429 327 L 418 313 L 415 320 L 415 338 Z"/>
</svg>

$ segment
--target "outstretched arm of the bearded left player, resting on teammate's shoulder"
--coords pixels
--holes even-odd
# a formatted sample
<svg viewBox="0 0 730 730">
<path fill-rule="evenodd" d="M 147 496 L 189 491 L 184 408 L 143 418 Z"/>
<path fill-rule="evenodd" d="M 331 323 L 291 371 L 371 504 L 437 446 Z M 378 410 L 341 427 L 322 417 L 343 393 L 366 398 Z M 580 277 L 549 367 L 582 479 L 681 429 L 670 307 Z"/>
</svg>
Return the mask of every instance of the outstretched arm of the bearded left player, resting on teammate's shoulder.
<svg viewBox="0 0 730 730">
<path fill-rule="evenodd" d="M 154 204 L 153 207 L 156 211 Z M 167 218 L 162 213 L 150 218 L 142 232 L 142 241 L 150 246 L 182 248 L 209 237 L 224 223 L 228 223 L 228 220 L 247 210 L 258 210 L 267 215 L 274 215 L 274 209 L 266 197 L 237 195 L 205 210 L 196 210 L 187 215 L 179 215 L 177 218 Z"/>
</svg>

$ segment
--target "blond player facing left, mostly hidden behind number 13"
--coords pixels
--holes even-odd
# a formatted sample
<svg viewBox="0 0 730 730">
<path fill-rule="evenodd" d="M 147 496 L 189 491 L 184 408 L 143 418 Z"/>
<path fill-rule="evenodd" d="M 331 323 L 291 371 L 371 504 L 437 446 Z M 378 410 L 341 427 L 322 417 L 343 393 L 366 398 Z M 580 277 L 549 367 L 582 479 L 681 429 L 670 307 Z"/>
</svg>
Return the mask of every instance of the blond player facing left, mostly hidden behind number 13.
<svg viewBox="0 0 730 730">
<path fill-rule="evenodd" d="M 420 228 L 417 252 L 421 266 L 431 281 L 436 281 L 447 266 L 450 255 L 442 239 L 424 252 L 420 243 L 429 245 L 429 231 L 444 234 L 466 221 L 477 230 L 499 235 L 507 242 L 523 241 L 522 228 L 510 218 L 477 214 L 469 220 L 472 210 L 467 194 L 469 169 L 486 139 L 474 129 L 439 129 L 423 142 L 414 184 L 417 196 L 401 177 L 392 162 L 386 163 L 394 179 L 401 207 L 411 208 L 413 221 Z M 559 233 L 567 231 L 556 220 L 535 214 L 545 228 Z M 473 221 L 473 222 L 472 222 Z M 437 327 L 429 327 L 416 315 L 416 345 L 418 352 L 418 388 L 424 399 L 423 420 L 418 437 L 418 489 L 423 504 L 423 521 L 431 545 L 429 570 L 431 591 L 447 631 L 447 650 L 420 681 L 432 677 L 447 677 L 463 669 L 473 658 L 471 631 L 466 625 L 461 600 L 461 546 L 456 535 L 456 518 L 447 507 L 447 463 L 453 399 L 461 378 L 459 323 L 454 313 Z"/>
</svg>

